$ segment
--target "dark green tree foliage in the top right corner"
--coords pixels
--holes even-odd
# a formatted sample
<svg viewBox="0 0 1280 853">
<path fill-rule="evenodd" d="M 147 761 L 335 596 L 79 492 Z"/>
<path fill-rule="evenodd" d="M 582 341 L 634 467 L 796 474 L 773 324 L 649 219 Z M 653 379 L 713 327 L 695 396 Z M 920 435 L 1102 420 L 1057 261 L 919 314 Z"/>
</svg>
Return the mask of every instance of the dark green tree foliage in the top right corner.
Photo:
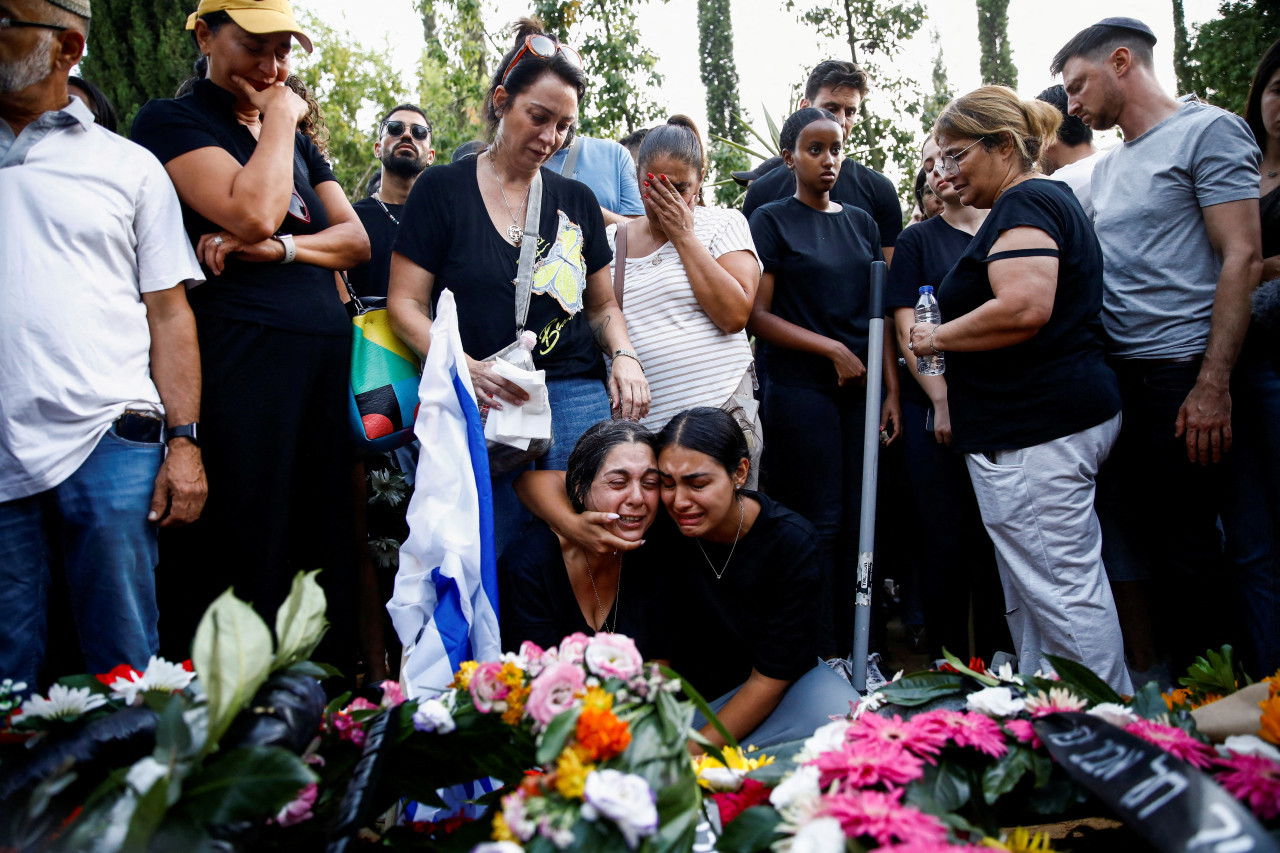
<svg viewBox="0 0 1280 853">
<path fill-rule="evenodd" d="M 1280 37 L 1280 1 L 1222 3 L 1219 18 L 1201 24 L 1190 49 L 1192 82 L 1201 97 L 1244 113 L 1249 81 L 1262 54 Z M 1183 86 L 1179 76 L 1179 86 Z"/>
</svg>

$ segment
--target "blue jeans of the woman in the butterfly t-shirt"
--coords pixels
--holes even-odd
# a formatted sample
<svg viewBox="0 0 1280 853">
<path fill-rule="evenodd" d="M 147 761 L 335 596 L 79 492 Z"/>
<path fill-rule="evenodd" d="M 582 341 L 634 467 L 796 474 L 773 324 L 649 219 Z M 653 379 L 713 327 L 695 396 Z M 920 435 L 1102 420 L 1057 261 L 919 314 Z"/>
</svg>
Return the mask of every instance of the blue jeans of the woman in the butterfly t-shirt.
<svg viewBox="0 0 1280 853">
<path fill-rule="evenodd" d="M 529 467 L 508 471 L 493 482 L 493 540 L 498 556 L 532 517 L 512 488 L 516 478 L 534 467 L 563 471 L 582 433 L 609 419 L 609 393 L 599 379 L 548 379 L 547 396 L 552 403 L 552 448 Z"/>
</svg>

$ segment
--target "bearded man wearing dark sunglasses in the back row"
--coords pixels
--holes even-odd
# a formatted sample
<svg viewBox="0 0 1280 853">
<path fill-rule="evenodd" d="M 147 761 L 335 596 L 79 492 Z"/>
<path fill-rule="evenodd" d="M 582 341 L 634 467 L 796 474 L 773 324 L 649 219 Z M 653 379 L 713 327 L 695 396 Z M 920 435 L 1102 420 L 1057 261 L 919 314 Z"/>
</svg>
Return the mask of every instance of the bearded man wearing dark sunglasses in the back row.
<svg viewBox="0 0 1280 853">
<path fill-rule="evenodd" d="M 352 205 L 369 233 L 369 260 L 347 273 L 358 296 L 387 296 L 392 248 L 413 182 L 435 163 L 431 123 L 422 108 L 401 104 L 378 123 L 374 156 L 383 164 L 378 190 Z"/>
</svg>

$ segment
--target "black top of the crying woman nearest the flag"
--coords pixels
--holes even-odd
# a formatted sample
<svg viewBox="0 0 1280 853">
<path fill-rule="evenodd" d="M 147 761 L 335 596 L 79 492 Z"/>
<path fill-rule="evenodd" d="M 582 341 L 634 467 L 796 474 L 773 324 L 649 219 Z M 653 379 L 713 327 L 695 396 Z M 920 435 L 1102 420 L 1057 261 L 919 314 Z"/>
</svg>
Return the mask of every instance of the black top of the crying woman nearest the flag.
<svg viewBox="0 0 1280 853">
<path fill-rule="evenodd" d="M 654 553 L 648 544 L 626 553 L 618 596 L 605 615 L 611 626 L 617 620 L 617 633 L 634 639 L 646 661 L 671 654 L 664 631 L 654 630 L 660 602 Z M 525 525 L 498 560 L 498 601 L 502 647 L 508 652 L 520 651 L 525 640 L 552 648 L 575 631 L 595 633 L 577 606 L 559 539 L 541 521 Z"/>
</svg>

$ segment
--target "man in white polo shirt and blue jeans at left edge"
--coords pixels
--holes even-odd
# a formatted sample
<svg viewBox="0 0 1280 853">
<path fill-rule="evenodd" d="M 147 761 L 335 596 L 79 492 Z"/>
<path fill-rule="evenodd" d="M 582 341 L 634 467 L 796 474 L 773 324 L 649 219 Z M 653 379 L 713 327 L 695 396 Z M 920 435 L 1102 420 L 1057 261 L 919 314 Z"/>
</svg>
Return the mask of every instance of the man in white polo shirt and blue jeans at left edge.
<svg viewBox="0 0 1280 853">
<path fill-rule="evenodd" d="M 202 275 L 160 163 L 68 96 L 88 17 L 0 0 L 0 672 L 29 688 L 54 571 L 88 671 L 146 666 L 156 528 L 206 493 L 182 287 Z"/>
</svg>

